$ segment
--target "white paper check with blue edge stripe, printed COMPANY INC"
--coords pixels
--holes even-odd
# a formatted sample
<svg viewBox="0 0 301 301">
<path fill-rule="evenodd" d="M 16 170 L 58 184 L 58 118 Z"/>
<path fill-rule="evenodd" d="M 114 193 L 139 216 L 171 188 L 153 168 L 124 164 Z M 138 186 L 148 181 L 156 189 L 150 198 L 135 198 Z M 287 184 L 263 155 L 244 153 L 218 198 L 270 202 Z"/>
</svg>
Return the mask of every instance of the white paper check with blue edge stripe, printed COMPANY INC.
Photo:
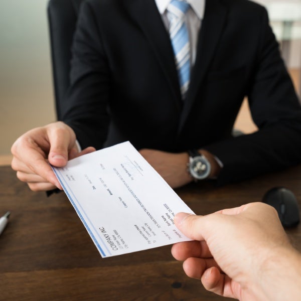
<svg viewBox="0 0 301 301">
<path fill-rule="evenodd" d="M 173 220 L 192 210 L 130 142 L 53 170 L 102 257 L 190 240 Z"/>
</svg>

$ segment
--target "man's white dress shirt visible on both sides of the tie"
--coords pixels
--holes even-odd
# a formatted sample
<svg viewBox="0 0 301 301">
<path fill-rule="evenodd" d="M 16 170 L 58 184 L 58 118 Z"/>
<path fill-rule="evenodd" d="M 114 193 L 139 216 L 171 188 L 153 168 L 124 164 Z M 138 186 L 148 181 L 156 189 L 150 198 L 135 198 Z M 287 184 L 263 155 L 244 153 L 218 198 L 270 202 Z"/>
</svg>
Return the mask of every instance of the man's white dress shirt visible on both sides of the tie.
<svg viewBox="0 0 301 301">
<path fill-rule="evenodd" d="M 170 26 L 168 18 L 169 12 L 167 11 L 167 7 L 171 1 L 172 0 L 155 0 L 167 31 L 169 30 Z M 191 66 L 193 66 L 196 60 L 198 33 L 201 28 L 202 20 L 204 18 L 205 0 L 186 0 L 186 2 L 190 4 L 189 10 L 185 14 L 185 22 L 189 33 L 191 51 L 190 58 Z"/>
</svg>

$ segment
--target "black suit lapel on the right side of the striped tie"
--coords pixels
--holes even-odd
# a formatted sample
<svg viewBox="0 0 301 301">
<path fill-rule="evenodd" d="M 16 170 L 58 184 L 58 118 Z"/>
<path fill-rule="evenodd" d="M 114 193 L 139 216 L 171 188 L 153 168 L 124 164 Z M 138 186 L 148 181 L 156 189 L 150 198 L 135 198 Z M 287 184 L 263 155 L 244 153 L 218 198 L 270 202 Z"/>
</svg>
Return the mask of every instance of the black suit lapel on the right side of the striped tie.
<svg viewBox="0 0 301 301">
<path fill-rule="evenodd" d="M 181 114 L 178 132 L 183 128 L 189 115 L 196 95 L 204 80 L 211 60 L 215 55 L 215 49 L 218 45 L 224 24 L 226 21 L 227 8 L 220 0 L 207 0 L 204 19 L 198 38 L 198 49 L 195 65 L 192 70 L 190 87 L 187 92 L 187 98 L 184 101 L 184 107 Z M 200 100 L 198 100 L 200 101 Z"/>
</svg>

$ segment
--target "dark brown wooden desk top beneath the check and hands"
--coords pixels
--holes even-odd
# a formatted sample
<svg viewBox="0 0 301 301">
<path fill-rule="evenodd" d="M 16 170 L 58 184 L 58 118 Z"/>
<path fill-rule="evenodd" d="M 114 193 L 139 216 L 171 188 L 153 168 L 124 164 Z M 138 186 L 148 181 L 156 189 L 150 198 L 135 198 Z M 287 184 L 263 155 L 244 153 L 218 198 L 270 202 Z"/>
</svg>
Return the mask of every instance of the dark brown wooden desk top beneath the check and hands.
<svg viewBox="0 0 301 301">
<path fill-rule="evenodd" d="M 274 186 L 292 190 L 300 202 L 300 184 L 301 166 L 177 193 L 197 214 L 208 214 L 260 201 Z M 10 223 L 0 236 L 1 300 L 224 300 L 185 275 L 171 246 L 102 259 L 64 193 L 31 192 L 10 167 L 1 167 L 0 215 L 8 210 Z M 301 226 L 287 233 L 301 251 Z"/>
</svg>

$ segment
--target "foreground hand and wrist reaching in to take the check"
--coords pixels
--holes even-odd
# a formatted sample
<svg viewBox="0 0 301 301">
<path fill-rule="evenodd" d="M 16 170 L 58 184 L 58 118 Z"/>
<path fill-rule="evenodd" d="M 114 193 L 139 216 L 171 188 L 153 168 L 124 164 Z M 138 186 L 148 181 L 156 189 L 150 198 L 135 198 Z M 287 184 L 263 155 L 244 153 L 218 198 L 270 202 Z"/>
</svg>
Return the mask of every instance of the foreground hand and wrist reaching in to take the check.
<svg viewBox="0 0 301 301">
<path fill-rule="evenodd" d="M 251 203 L 207 216 L 179 213 L 175 224 L 194 241 L 173 245 L 172 254 L 207 290 L 240 300 L 300 296 L 300 255 L 271 206 Z"/>
</svg>

